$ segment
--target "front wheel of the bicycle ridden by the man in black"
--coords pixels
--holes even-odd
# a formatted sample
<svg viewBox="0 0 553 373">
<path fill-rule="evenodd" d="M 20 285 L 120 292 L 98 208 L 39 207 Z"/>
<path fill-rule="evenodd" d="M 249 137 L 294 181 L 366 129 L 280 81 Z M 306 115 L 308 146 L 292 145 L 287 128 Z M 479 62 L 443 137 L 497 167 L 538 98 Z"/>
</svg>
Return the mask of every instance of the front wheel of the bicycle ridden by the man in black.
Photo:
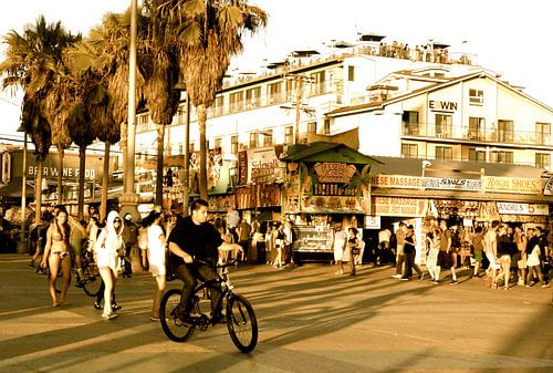
<svg viewBox="0 0 553 373">
<path fill-rule="evenodd" d="M 227 302 L 227 328 L 238 350 L 248 353 L 258 344 L 258 319 L 250 302 L 232 294 Z"/>
</svg>

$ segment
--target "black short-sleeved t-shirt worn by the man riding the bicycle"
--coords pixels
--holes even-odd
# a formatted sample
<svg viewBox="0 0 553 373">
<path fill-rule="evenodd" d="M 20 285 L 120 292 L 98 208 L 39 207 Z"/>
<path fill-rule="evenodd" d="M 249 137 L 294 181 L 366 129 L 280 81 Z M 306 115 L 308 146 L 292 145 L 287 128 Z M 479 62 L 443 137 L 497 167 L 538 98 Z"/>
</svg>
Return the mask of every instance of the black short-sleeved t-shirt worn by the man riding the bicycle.
<svg viewBox="0 0 553 373">
<path fill-rule="evenodd" d="M 177 244 L 180 249 L 194 258 L 210 260 L 218 257 L 218 247 L 221 246 L 222 238 L 211 224 L 204 222 L 198 226 L 191 217 L 187 216 L 177 220 L 168 242 Z M 184 259 L 173 255 L 171 263 L 174 266 L 181 265 Z"/>
</svg>

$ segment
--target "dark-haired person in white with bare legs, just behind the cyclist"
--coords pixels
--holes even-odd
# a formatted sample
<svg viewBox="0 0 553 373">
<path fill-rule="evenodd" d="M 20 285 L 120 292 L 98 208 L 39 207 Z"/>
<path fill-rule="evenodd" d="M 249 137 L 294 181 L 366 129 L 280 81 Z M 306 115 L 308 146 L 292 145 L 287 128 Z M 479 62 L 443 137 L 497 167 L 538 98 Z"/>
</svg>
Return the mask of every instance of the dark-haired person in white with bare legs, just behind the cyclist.
<svg viewBox="0 0 553 373">
<path fill-rule="evenodd" d="M 166 239 L 164 230 L 160 227 L 163 215 L 152 211 L 147 217 L 148 247 L 146 249 L 148 257 L 148 269 L 156 279 L 156 291 L 154 292 L 154 302 L 149 320 L 159 321 L 159 303 L 165 291 L 166 283 Z"/>
</svg>

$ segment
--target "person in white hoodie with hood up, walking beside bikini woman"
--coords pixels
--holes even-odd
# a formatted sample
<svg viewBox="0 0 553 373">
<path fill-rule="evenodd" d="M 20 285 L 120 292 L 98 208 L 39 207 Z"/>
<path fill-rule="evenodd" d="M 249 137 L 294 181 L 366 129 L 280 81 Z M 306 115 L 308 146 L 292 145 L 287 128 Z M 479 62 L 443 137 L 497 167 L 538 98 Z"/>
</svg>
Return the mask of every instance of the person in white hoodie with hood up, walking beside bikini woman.
<svg viewBox="0 0 553 373">
<path fill-rule="evenodd" d="M 105 320 L 117 317 L 117 313 L 112 309 L 112 293 L 115 292 L 115 283 L 121 269 L 119 255 L 125 249 L 123 229 L 123 221 L 117 211 L 109 211 L 106 226 L 100 234 L 94 247 L 100 276 L 102 276 L 105 283 L 104 312 L 102 313 L 102 318 Z"/>
</svg>

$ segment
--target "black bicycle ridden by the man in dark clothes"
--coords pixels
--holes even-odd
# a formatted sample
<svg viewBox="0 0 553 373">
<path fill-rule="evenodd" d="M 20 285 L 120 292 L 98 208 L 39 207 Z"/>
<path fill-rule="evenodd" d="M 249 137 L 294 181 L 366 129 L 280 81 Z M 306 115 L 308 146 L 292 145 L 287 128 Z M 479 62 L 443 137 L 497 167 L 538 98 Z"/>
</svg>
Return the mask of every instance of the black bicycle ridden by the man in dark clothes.
<svg viewBox="0 0 553 373">
<path fill-rule="evenodd" d="M 234 345 L 243 353 L 249 353 L 255 349 L 258 343 L 258 319 L 251 303 L 243 297 L 233 292 L 234 287 L 230 283 L 228 277 L 228 267 L 234 266 L 236 260 L 212 266 L 208 262 L 196 260 L 197 263 L 202 263 L 213 267 L 218 272 L 218 279 L 199 283 L 190 301 L 192 302 L 192 314 L 199 317 L 192 318 L 192 324 L 185 323 L 177 319 L 176 311 L 180 301 L 181 291 L 179 289 L 170 289 L 165 292 L 159 307 L 161 329 L 165 334 L 175 342 L 186 342 L 192 335 L 196 329 L 206 331 L 209 324 L 212 323 L 207 313 L 202 312 L 202 308 L 207 307 L 207 300 L 201 302 L 204 289 L 221 288 L 221 298 L 219 302 L 226 302 L 227 311 L 227 329 Z M 220 304 L 221 309 L 225 304 Z"/>
</svg>

